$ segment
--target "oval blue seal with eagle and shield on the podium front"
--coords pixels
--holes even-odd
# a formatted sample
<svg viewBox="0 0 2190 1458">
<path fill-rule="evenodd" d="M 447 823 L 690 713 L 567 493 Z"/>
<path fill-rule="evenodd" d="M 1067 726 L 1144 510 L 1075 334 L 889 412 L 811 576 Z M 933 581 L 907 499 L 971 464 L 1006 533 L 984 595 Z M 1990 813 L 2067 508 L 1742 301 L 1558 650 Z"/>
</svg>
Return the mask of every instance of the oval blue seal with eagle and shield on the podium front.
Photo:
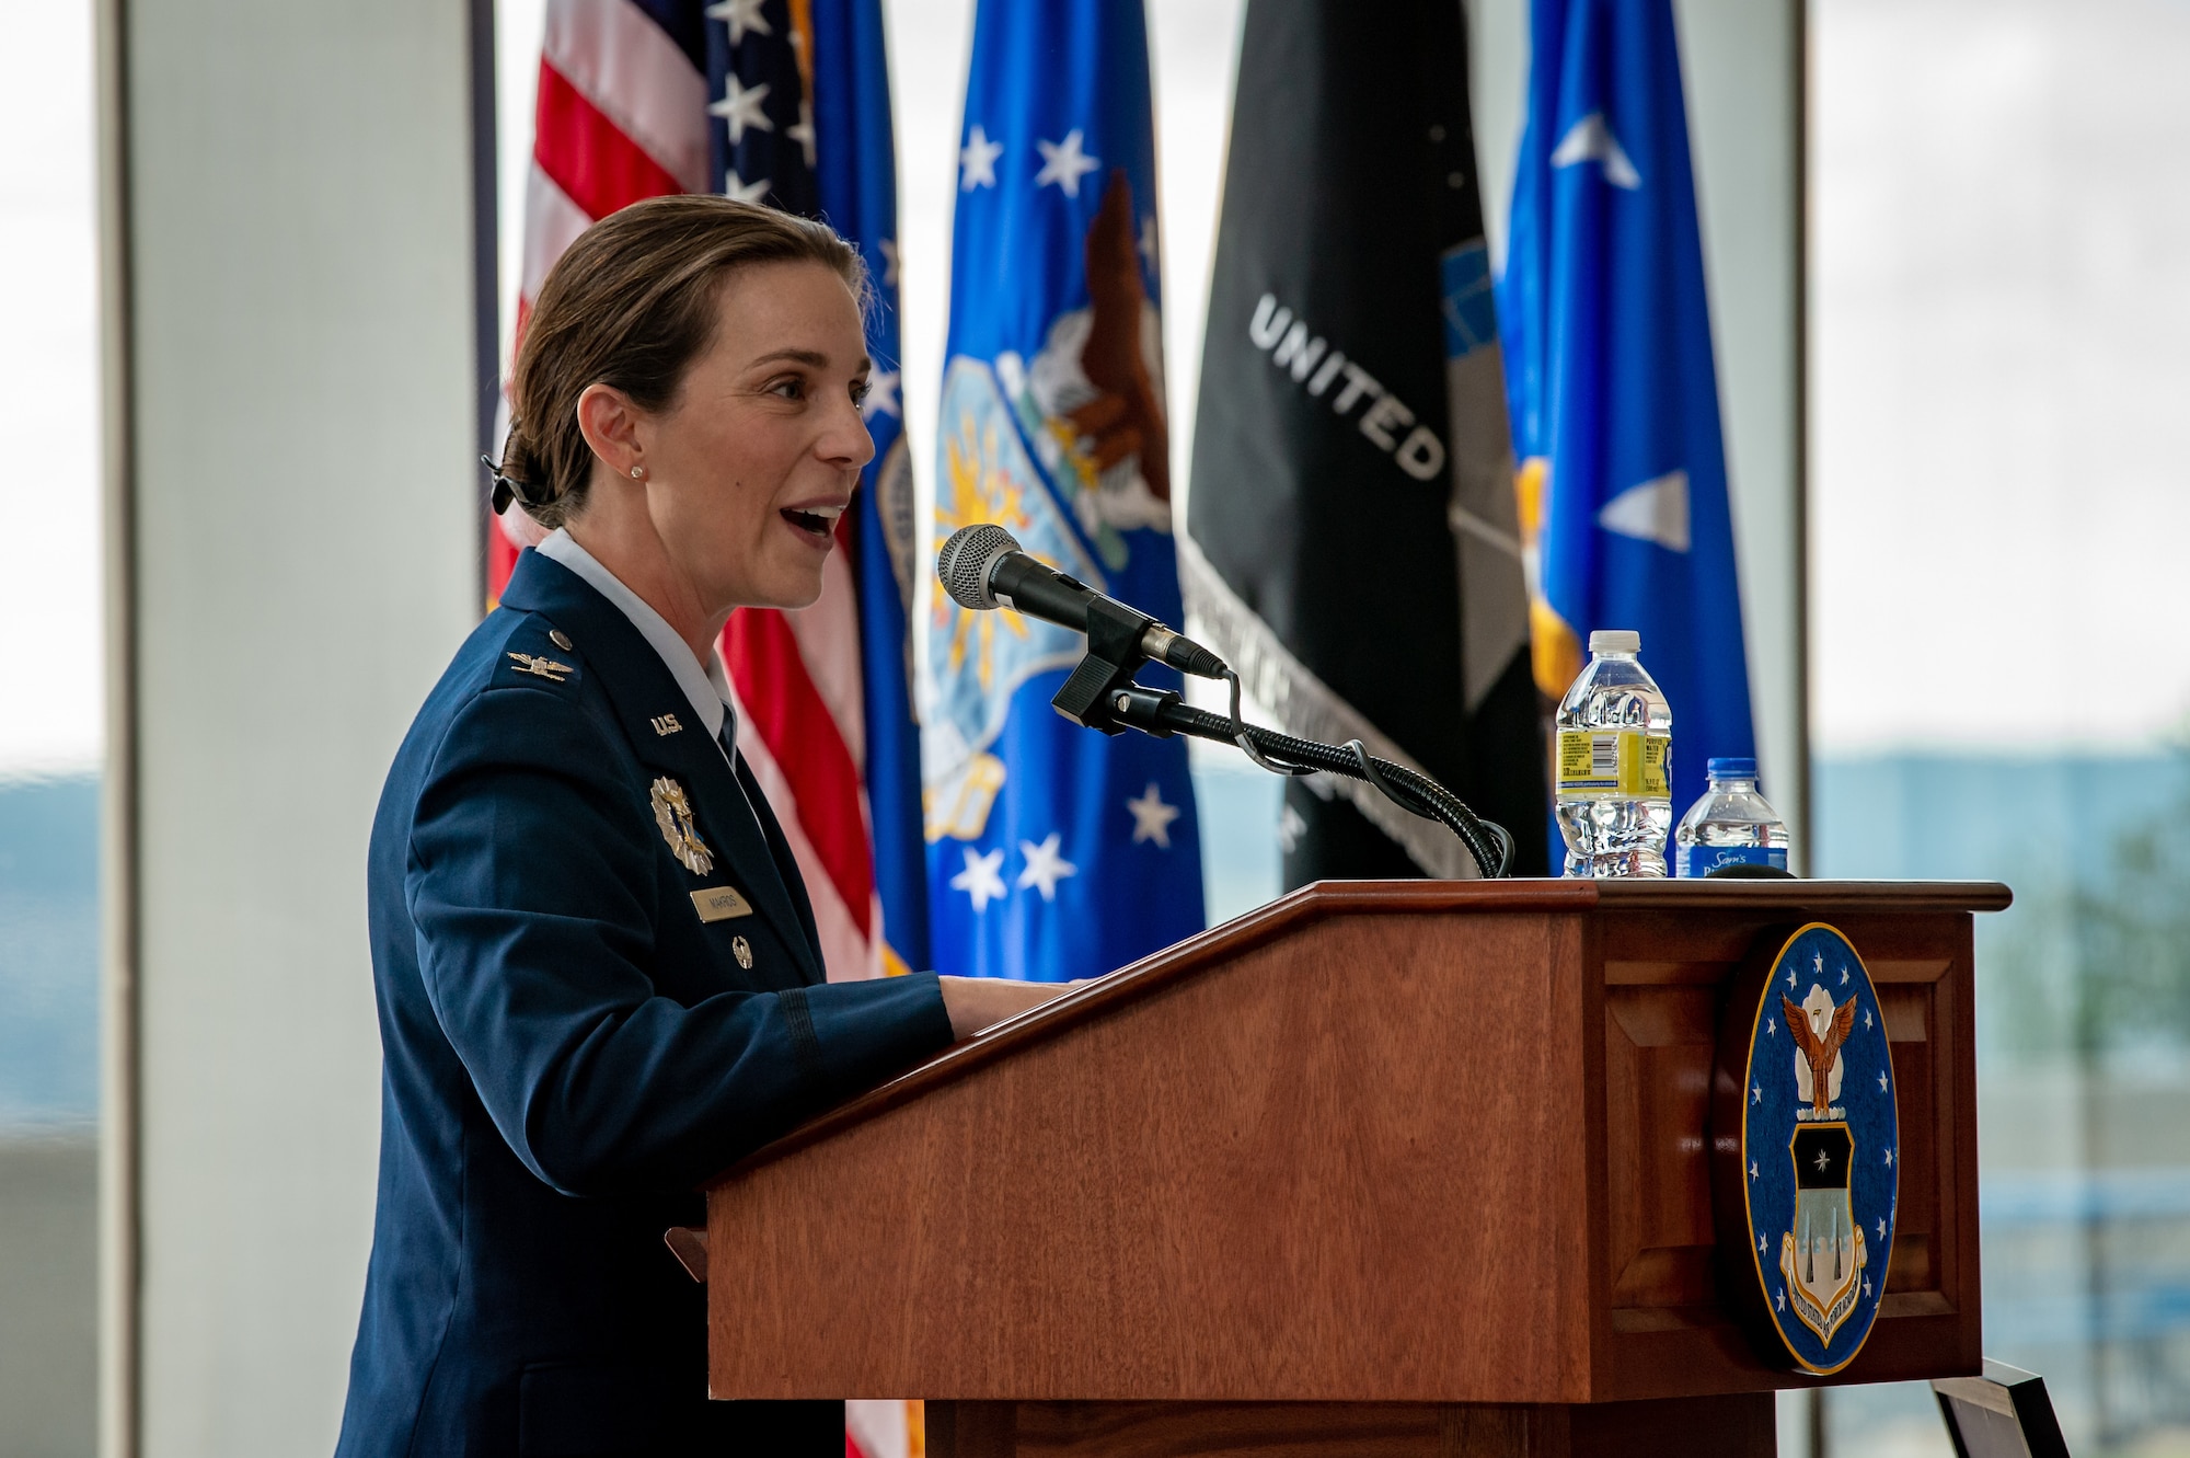
<svg viewBox="0 0 2190 1458">
<path fill-rule="evenodd" d="M 1886 1014 L 1824 922 L 1759 952 L 1719 1031 L 1721 1289 L 1767 1362 L 1837 1373 L 1870 1335 L 1892 1263 L 1901 1125 Z"/>
</svg>

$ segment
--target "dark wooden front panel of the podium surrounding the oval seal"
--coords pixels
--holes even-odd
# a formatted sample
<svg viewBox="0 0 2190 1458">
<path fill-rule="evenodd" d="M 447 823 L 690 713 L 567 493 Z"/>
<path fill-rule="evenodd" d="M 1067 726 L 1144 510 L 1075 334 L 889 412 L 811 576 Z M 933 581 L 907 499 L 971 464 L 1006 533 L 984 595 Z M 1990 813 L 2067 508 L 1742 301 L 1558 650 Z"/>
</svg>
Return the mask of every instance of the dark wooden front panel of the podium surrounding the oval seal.
<svg viewBox="0 0 2190 1458">
<path fill-rule="evenodd" d="M 1993 904 L 1997 898 L 1971 902 Z M 1886 1014 L 1901 1123 L 1901 1200 L 1879 1322 L 1855 1364 L 1822 1381 L 1899 1381 L 1982 1366 L 1971 915 L 1923 898 L 1903 906 L 1842 904 L 1829 882 L 1818 882 L 1811 895 L 1776 915 L 1724 909 L 1713 915 L 1647 911 L 1594 919 L 1607 948 L 1605 974 L 1618 976 L 1607 987 L 1605 1018 L 1603 1193 L 1614 1285 L 1607 1292 L 1610 1340 L 1599 1346 L 1594 1373 L 1601 1397 L 1820 1381 L 1767 1366 L 1730 1324 L 1713 1287 L 1717 1233 L 1708 1176 L 1697 1182 L 1682 1158 L 1691 1147 L 1706 1147 L 1708 1121 L 1664 1125 L 1667 1110 L 1675 1119 L 1693 1116 L 1697 1103 L 1688 1090 L 1710 1068 L 1706 1044 L 1715 1038 L 1717 996 L 1710 1018 L 1702 1020 L 1693 1000 L 1697 983 L 1717 990 L 1752 946 L 1802 922 L 1837 926 L 1870 970 Z M 1647 1049 L 1651 1042 L 1658 1046 Z M 1673 1053 L 1662 1053 L 1667 1046 Z M 1960 1084 L 1943 1084 L 1943 1068 L 1960 1071 L 1953 1075 Z M 1647 1169 L 1658 1171 L 1653 1184 L 1642 1173 Z M 1697 1197 L 1702 1204 L 1695 1204 Z M 1627 1235 L 1632 1230 L 1649 1233 L 1649 1241 Z M 1945 1259 L 1947 1250 L 1956 1252 L 1953 1261 Z"/>
</svg>

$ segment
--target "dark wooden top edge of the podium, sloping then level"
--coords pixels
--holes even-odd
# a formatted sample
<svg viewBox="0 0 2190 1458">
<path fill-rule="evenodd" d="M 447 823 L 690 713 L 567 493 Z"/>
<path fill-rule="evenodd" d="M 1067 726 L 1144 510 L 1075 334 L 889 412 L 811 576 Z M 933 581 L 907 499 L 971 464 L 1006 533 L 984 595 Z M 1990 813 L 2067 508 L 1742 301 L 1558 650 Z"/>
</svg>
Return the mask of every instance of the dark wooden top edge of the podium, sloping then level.
<svg viewBox="0 0 2190 1458">
<path fill-rule="evenodd" d="M 2006 911 L 1997 880 L 1318 880 L 999 1022 L 731 1165 L 710 1189 L 865 1123 L 999 1057 L 1143 998 L 1211 961 L 1347 915 L 1741 913 L 1831 919 L 1864 913 Z"/>
</svg>

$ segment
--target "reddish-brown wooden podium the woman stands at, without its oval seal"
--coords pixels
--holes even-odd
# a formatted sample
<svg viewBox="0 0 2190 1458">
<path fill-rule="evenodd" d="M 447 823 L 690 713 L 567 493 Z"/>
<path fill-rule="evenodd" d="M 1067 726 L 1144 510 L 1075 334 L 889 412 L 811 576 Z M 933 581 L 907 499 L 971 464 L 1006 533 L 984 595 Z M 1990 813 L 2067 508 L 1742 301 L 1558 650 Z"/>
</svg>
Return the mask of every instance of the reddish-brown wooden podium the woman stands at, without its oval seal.
<svg viewBox="0 0 2190 1458">
<path fill-rule="evenodd" d="M 1772 1454 L 1715 1285 L 1721 987 L 1831 922 L 1892 1046 L 1886 1298 L 1975 1375 L 1971 913 L 1999 884 L 1323 882 L 707 1191 L 714 1397 L 924 1397 L 929 1454 Z M 1745 1233 L 1737 1235 L 1745 1241 Z"/>
</svg>

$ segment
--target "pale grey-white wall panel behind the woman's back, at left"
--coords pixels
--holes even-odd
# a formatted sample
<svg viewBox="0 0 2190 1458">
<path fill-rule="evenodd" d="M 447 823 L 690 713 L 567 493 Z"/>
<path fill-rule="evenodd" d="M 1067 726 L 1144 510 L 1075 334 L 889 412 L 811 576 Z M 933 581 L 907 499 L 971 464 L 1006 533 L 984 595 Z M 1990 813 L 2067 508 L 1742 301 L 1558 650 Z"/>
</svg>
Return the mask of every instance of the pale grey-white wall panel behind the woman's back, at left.
<svg viewBox="0 0 2190 1458">
<path fill-rule="evenodd" d="M 366 834 L 477 620 L 466 13 L 116 9 L 142 1451 L 324 1454 L 379 1138 Z"/>
</svg>

